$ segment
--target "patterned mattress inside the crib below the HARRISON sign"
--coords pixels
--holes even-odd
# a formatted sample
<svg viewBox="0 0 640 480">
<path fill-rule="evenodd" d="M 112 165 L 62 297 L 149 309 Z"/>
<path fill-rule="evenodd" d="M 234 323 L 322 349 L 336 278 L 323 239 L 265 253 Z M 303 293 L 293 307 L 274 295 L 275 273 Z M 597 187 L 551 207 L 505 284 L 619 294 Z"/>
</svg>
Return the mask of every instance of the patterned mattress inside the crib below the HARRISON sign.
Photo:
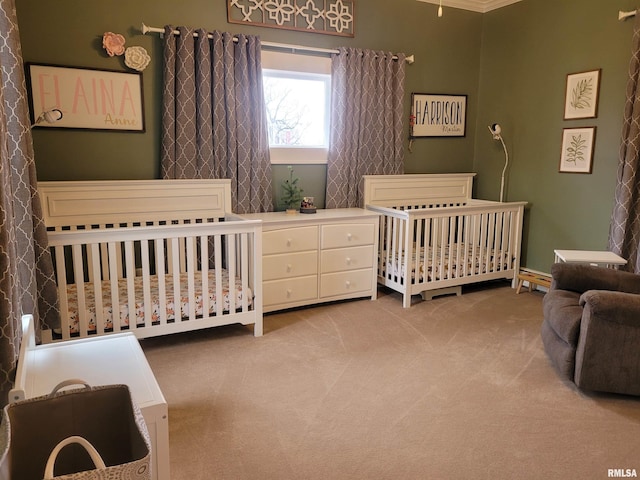
<svg viewBox="0 0 640 480">
<path fill-rule="evenodd" d="M 458 251 L 460 254 L 458 255 Z M 466 269 L 465 266 L 466 251 Z M 383 252 L 386 257 L 386 252 Z M 411 279 L 416 280 L 416 258 L 420 259 L 418 265 L 418 281 L 437 281 L 447 278 L 459 278 L 465 275 L 478 275 L 481 273 L 495 272 L 498 269 L 507 270 L 510 268 L 510 258 L 507 252 L 498 252 L 495 250 L 481 249 L 476 247 L 475 255 L 473 247 L 465 244 L 454 244 L 451 247 L 444 246 L 436 248 L 435 265 L 434 252 L 429 249 L 426 252 L 427 258 L 424 258 L 424 248 L 414 249 L 410 262 Z M 487 256 L 489 256 L 487 268 Z M 442 261 L 441 261 L 442 259 Z M 460 265 L 456 262 L 460 262 Z M 399 253 L 395 257 L 395 261 L 390 259 L 386 262 L 386 273 L 394 277 L 405 277 L 405 267 L 403 263 L 403 255 Z M 425 275 L 426 273 L 426 275 Z"/>
</svg>

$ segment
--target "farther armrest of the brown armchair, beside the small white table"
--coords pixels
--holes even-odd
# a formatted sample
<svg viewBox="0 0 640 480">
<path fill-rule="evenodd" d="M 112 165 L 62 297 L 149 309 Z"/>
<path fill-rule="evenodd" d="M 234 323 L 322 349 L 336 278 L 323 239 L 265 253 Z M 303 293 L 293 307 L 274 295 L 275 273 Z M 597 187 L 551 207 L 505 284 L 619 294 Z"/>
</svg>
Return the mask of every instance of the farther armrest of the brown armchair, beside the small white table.
<svg viewBox="0 0 640 480">
<path fill-rule="evenodd" d="M 611 268 L 578 263 L 555 263 L 551 266 L 551 277 L 552 289 L 577 293 L 611 290 L 640 294 L 640 275 Z"/>
</svg>

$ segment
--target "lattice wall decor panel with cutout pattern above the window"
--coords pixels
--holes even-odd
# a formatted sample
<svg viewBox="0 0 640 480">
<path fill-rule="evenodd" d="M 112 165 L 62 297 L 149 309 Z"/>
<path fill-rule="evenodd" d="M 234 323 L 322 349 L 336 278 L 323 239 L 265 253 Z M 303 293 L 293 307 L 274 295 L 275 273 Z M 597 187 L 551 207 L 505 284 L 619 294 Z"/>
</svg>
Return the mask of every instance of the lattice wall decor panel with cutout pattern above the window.
<svg viewBox="0 0 640 480">
<path fill-rule="evenodd" d="M 355 36 L 355 0 L 227 0 L 229 23 Z"/>
</svg>

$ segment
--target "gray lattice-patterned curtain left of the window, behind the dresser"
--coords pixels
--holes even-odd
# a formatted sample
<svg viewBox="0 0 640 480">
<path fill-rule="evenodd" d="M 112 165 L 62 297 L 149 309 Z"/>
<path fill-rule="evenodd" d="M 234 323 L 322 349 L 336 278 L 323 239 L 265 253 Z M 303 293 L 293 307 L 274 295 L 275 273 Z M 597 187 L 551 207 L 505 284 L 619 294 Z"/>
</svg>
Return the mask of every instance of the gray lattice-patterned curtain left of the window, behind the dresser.
<svg viewBox="0 0 640 480">
<path fill-rule="evenodd" d="M 259 38 L 178 31 L 165 27 L 163 178 L 230 178 L 235 213 L 273 210 Z"/>
</svg>

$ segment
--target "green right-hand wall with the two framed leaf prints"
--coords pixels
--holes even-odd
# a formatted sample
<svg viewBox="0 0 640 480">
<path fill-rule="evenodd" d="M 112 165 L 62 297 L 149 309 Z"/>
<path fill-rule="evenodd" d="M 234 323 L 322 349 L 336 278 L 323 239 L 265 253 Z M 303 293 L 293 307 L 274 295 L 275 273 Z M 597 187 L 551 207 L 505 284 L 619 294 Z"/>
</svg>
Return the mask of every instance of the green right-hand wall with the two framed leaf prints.
<svg viewBox="0 0 640 480">
<path fill-rule="evenodd" d="M 473 170 L 477 194 L 498 199 L 504 152 L 508 200 L 529 202 L 523 264 L 548 272 L 554 249 L 606 249 L 634 20 L 633 0 L 524 0 L 483 18 Z M 563 120 L 566 76 L 602 69 L 598 116 Z M 559 173 L 563 128 L 596 126 L 591 174 Z"/>
</svg>

